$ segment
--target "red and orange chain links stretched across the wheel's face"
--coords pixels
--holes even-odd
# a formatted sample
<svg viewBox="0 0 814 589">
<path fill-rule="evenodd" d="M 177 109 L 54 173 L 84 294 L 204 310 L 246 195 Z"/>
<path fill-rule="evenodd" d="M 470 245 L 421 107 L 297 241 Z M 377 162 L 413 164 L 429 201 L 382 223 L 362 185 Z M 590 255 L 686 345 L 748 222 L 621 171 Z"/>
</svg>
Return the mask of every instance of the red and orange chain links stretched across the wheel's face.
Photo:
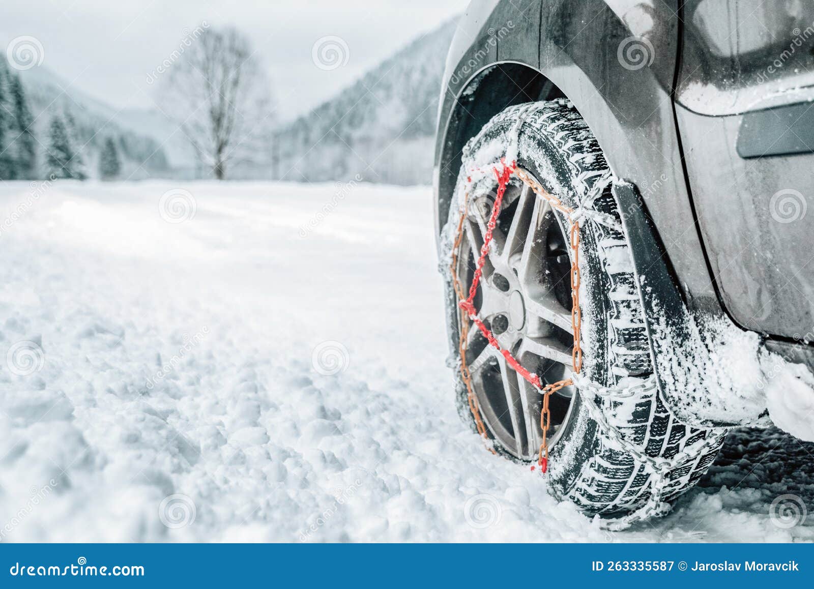
<svg viewBox="0 0 814 589">
<path fill-rule="evenodd" d="M 578 221 L 571 219 L 571 213 L 574 212 L 574 209 L 566 207 L 564 204 L 562 204 L 560 199 L 554 196 L 554 194 L 549 194 L 549 192 L 545 190 L 540 183 L 528 176 L 528 174 L 523 172 L 523 170 L 518 169 L 516 162 L 512 162 L 511 165 L 506 165 L 505 160 L 501 158 L 499 164 L 492 166 L 492 171 L 497 177 L 497 196 L 495 197 L 495 203 L 492 206 L 492 214 L 489 216 L 488 225 L 486 226 L 486 234 L 484 235 L 484 245 L 480 248 L 480 257 L 475 264 L 475 275 L 472 277 L 472 284 L 469 287 L 469 295 L 466 297 L 466 299 L 464 299 L 464 292 L 461 282 L 458 280 L 456 268 L 461 243 L 463 241 L 463 222 L 466 218 L 466 212 L 469 207 L 469 190 L 466 190 L 466 194 L 464 196 L 463 210 L 461 212 L 461 218 L 458 220 L 457 234 L 453 244 L 451 267 L 453 286 L 459 301 L 458 307 L 461 309 L 461 334 L 458 340 L 458 353 L 461 357 L 461 376 L 466 385 L 466 397 L 469 400 L 469 408 L 472 412 L 472 416 L 475 417 L 475 425 L 478 428 L 478 432 L 484 438 L 488 438 L 483 418 L 480 416 L 478 401 L 472 391 L 469 367 L 466 364 L 466 341 L 469 334 L 469 325 L 466 319 L 468 318 L 478 327 L 478 329 L 480 329 L 480 333 L 484 334 L 484 337 L 487 339 L 489 344 L 497 349 L 497 351 L 501 352 L 501 355 L 505 358 L 506 363 L 509 364 L 511 368 L 514 369 L 527 382 L 531 383 L 536 390 L 539 390 L 541 395 L 543 395 L 543 406 L 540 410 L 540 430 L 543 432 L 543 442 L 540 444 L 540 456 L 537 464 L 540 465 L 540 471 L 545 473 L 549 467 L 548 431 L 551 421 L 549 397 L 558 390 L 562 389 L 563 386 L 572 385 L 573 381 L 569 378 L 567 380 L 554 382 L 553 384 L 544 386 L 539 376 L 537 376 L 535 373 L 530 373 L 523 367 L 522 364 L 519 363 L 516 358 L 514 358 L 514 356 L 511 355 L 510 351 L 501 348 L 500 343 L 497 342 L 497 338 L 495 338 L 494 334 L 492 334 L 492 331 L 488 329 L 484 322 L 479 319 L 474 301 L 475 294 L 477 294 L 478 291 L 480 279 L 484 274 L 484 263 L 486 261 L 486 256 L 489 253 L 489 245 L 492 242 L 492 233 L 495 229 L 495 225 L 497 225 L 497 216 L 499 216 L 501 212 L 503 195 L 505 194 L 506 186 L 509 185 L 510 177 L 514 174 L 535 194 L 547 200 L 551 207 L 559 212 L 562 212 L 568 220 L 568 225 L 571 227 L 570 241 L 571 251 L 573 252 L 571 258 L 571 327 L 574 331 L 574 347 L 571 351 L 571 367 L 574 373 L 579 374 L 580 370 L 582 369 L 582 348 L 580 347 L 580 330 L 582 329 L 582 316 L 580 313 L 580 224 Z M 472 172 L 479 172 L 479 170 L 472 170 Z M 472 177 L 468 177 L 466 181 L 468 184 L 471 184 Z M 494 450 L 491 447 L 489 449 L 492 453 L 494 453 Z"/>
</svg>

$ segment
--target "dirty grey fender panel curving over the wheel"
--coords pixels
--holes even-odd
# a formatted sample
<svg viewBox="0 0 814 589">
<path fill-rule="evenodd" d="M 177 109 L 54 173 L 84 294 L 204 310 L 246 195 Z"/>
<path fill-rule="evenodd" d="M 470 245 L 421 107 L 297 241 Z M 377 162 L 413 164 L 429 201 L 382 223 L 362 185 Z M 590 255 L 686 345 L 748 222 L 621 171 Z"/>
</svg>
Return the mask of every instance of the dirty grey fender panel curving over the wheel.
<svg viewBox="0 0 814 589">
<path fill-rule="evenodd" d="M 565 97 L 589 124 L 610 169 L 637 185 L 683 298 L 720 312 L 696 230 L 672 104 L 677 2 L 475 0 L 449 51 L 435 142 L 435 235 L 449 212 L 463 146 L 516 103 Z M 628 39 L 649 65 L 626 61 Z M 632 41 L 631 41 L 632 42 Z M 649 53 L 648 53 L 649 52 Z M 625 62 L 625 63 L 623 63 Z M 676 223 L 677 220 L 686 220 Z"/>
</svg>

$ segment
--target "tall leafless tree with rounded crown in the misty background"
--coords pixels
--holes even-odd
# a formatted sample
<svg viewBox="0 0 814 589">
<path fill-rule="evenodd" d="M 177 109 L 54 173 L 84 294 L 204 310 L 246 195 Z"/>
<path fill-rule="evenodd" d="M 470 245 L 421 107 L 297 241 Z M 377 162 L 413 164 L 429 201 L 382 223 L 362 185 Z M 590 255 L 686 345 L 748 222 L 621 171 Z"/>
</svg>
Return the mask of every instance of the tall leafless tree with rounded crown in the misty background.
<svg viewBox="0 0 814 589">
<path fill-rule="evenodd" d="M 218 180 L 266 150 L 269 84 L 251 43 L 234 28 L 207 28 L 177 55 L 159 102 Z"/>
</svg>

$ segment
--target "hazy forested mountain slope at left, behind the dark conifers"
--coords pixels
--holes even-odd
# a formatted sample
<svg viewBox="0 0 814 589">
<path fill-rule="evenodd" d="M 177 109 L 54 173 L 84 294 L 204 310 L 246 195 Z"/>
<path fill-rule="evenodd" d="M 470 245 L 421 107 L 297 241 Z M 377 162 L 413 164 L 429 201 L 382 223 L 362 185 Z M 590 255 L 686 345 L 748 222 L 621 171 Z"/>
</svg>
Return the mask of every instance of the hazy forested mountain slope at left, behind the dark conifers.
<svg viewBox="0 0 814 589">
<path fill-rule="evenodd" d="M 142 133 L 136 124 L 127 124 L 125 111 L 116 108 L 74 88 L 54 72 L 39 66 L 17 75 L 23 83 L 29 107 L 34 117 L 34 135 L 43 146 L 48 146 L 51 120 L 59 116 L 66 120 L 77 148 L 90 176 L 96 175 L 99 152 L 111 137 L 121 154 L 121 177 L 137 180 L 151 176 L 168 175 L 170 164 L 160 141 Z M 43 153 L 40 159 L 44 159 Z"/>
</svg>

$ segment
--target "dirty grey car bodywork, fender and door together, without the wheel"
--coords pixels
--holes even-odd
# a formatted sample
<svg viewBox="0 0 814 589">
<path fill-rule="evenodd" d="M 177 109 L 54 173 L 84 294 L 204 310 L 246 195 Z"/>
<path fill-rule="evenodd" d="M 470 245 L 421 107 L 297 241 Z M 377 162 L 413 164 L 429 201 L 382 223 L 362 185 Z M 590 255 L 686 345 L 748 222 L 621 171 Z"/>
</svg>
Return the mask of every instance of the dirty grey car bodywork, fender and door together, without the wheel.
<svg viewBox="0 0 814 589">
<path fill-rule="evenodd" d="M 758 9 L 760 1 L 755 0 Z M 768 37 L 750 44 L 735 36 L 727 45 L 729 31 L 742 22 L 738 11 L 755 2 L 694 0 L 684 7 L 664 0 L 533 0 L 522 6 L 508 0 L 472 2 L 453 40 L 442 85 L 435 149 L 436 237 L 449 215 L 466 142 L 506 107 L 568 98 L 597 137 L 615 176 L 635 186 L 637 204 L 623 211 L 635 218 L 626 226 L 650 226 L 658 232 L 654 240 L 666 253 L 657 256 L 664 263 L 659 284 L 669 292 L 651 293 L 654 308 L 670 302 L 681 309 L 676 315 L 688 317 L 689 312 L 690 319 L 704 319 L 693 325 L 717 317 L 723 320 L 720 325 L 729 321 L 762 332 L 768 349 L 814 367 L 814 348 L 807 345 L 807 334 L 814 331 L 814 263 L 808 264 L 814 252 L 806 245 L 814 214 L 782 223 L 769 210 L 777 190 L 808 194 L 812 154 L 805 152 L 804 141 L 781 142 L 758 157 L 737 152 L 738 137 L 742 149 L 755 151 L 760 125 L 772 129 L 775 137 L 783 135 L 783 124 L 790 131 L 803 129 L 788 114 L 799 110 L 764 111 L 799 109 L 808 93 L 814 99 L 811 89 L 791 88 L 795 81 L 807 80 L 807 72 L 796 76 L 786 69 L 760 81 L 775 91 L 750 102 L 746 74 L 755 76 L 756 66 L 737 62 L 771 55 L 786 42 L 783 28 L 794 23 L 802 27 L 814 3 L 802 2 L 806 6 L 801 8 L 797 0 L 783 0 Z M 692 25 L 682 26 L 682 10 Z M 814 22 L 811 30 L 814 41 Z M 707 62 L 702 50 L 710 55 Z M 802 52 L 786 57 L 786 63 L 795 65 L 807 60 Z M 733 81 L 733 72 L 746 73 Z M 724 102 L 710 106 L 704 98 L 708 95 Z M 767 116 L 780 122 L 770 123 Z M 721 191 L 721 185 L 728 190 Z M 803 200 L 801 206 L 805 204 Z M 634 263 L 650 260 L 652 268 L 652 255 L 638 254 L 634 252 Z M 640 276 L 647 270 L 637 266 Z M 680 342 L 668 343 L 651 346 L 654 356 L 681 353 L 676 347 Z M 692 361 L 690 356 L 686 361 Z M 659 357 L 655 360 L 659 365 Z M 709 404 L 703 414 L 682 412 L 676 397 L 681 393 L 672 390 L 673 396 L 664 398 L 685 423 L 731 425 L 720 403 Z"/>
</svg>

